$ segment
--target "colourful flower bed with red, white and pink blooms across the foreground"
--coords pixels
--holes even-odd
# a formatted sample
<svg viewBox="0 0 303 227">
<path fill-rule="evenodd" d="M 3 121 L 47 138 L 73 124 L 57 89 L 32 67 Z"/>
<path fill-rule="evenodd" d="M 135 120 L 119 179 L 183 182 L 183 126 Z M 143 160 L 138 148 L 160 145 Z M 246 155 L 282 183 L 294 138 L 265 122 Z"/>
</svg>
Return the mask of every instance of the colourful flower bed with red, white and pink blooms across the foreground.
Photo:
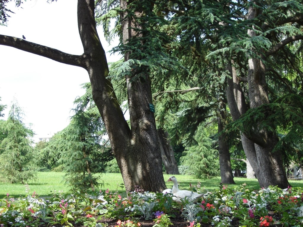
<svg viewBox="0 0 303 227">
<path fill-rule="evenodd" d="M 303 226 L 303 189 L 269 187 L 257 192 L 220 186 L 196 204 L 172 201 L 171 194 L 74 191 L 39 198 L 35 192 L 0 200 L 0 226 Z"/>
</svg>

